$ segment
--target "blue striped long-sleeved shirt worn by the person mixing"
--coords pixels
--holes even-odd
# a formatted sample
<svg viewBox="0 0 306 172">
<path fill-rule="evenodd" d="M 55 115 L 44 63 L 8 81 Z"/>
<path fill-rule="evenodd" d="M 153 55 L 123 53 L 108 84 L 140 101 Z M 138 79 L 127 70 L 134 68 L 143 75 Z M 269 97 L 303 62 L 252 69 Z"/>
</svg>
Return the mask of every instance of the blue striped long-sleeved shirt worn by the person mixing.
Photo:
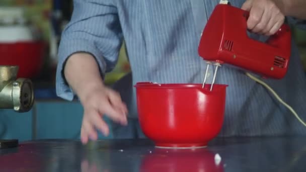
<svg viewBox="0 0 306 172">
<path fill-rule="evenodd" d="M 138 81 L 201 83 L 206 63 L 198 55 L 198 43 L 218 3 L 219 0 L 74 0 L 73 15 L 59 46 L 57 95 L 65 100 L 74 97 L 61 74 L 69 55 L 78 51 L 93 54 L 104 75 L 116 65 L 123 38 L 133 84 Z M 236 7 L 243 3 L 231 2 Z M 288 19 L 305 27 L 304 21 Z M 209 73 L 208 83 L 212 79 L 211 68 Z M 286 76 L 282 80 L 265 81 L 306 121 L 306 78 L 293 40 Z M 229 85 L 221 136 L 306 133 L 306 127 L 273 95 L 240 71 L 223 66 L 218 70 L 216 83 Z M 134 89 L 132 93 L 129 116 L 137 117 Z"/>
</svg>

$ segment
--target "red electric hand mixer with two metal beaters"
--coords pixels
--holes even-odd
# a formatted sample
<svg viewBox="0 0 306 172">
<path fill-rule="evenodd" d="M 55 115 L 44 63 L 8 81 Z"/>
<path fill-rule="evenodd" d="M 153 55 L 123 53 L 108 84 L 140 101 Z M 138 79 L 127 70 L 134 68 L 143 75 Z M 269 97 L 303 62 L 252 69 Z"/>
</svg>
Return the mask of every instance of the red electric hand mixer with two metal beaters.
<svg viewBox="0 0 306 172">
<path fill-rule="evenodd" d="M 281 79 L 287 72 L 291 33 L 288 25 L 281 28 L 266 42 L 247 35 L 249 12 L 221 1 L 213 10 L 203 30 L 198 47 L 199 55 L 207 61 L 203 88 L 209 64 L 216 65 L 210 91 L 220 64 L 230 64 L 263 77 Z"/>
</svg>

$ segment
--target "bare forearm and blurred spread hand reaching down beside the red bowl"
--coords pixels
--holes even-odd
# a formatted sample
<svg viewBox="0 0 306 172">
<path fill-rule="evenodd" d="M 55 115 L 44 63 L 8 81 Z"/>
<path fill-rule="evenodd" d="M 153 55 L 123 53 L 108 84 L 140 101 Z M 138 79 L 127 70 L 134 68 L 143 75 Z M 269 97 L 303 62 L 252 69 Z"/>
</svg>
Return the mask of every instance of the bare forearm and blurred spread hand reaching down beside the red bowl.
<svg viewBox="0 0 306 172">
<path fill-rule="evenodd" d="M 115 91 L 107 88 L 99 73 L 95 58 L 88 53 L 75 53 L 68 58 L 64 75 L 84 108 L 81 141 L 97 140 L 97 130 L 109 134 L 109 127 L 102 116 L 122 125 L 127 124 L 127 108 Z"/>
</svg>

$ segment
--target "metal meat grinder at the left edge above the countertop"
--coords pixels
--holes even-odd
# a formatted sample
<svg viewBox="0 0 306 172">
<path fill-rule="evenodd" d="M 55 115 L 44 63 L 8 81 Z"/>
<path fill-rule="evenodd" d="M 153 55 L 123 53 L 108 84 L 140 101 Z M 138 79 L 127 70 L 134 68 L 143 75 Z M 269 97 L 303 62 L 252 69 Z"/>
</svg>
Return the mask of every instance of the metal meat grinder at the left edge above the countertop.
<svg viewBox="0 0 306 172">
<path fill-rule="evenodd" d="M 34 104 L 33 84 L 30 79 L 17 78 L 18 66 L 0 65 L 0 109 L 28 112 Z M 18 139 L 0 140 L 0 149 L 17 147 Z"/>
</svg>

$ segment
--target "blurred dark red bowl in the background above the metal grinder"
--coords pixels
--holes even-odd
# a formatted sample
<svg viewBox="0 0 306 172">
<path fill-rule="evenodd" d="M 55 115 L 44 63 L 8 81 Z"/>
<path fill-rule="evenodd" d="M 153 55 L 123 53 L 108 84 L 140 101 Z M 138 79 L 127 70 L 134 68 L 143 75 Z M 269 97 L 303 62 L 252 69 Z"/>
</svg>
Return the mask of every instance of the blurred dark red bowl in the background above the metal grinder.
<svg viewBox="0 0 306 172">
<path fill-rule="evenodd" d="M 0 43 L 0 65 L 19 66 L 17 77 L 33 78 L 39 74 L 44 62 L 43 41 Z"/>
</svg>

